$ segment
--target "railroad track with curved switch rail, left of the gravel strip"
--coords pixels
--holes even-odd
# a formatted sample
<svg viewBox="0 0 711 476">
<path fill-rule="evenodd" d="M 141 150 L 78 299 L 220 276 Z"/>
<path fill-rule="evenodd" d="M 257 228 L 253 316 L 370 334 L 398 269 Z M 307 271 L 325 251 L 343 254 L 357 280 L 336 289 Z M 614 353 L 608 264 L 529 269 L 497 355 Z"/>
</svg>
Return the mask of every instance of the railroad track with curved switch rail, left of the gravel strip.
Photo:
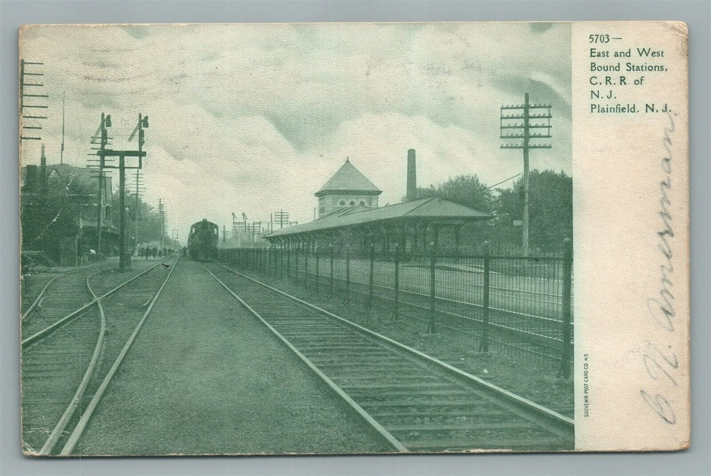
<svg viewBox="0 0 711 476">
<path fill-rule="evenodd" d="M 92 301 L 23 340 L 22 425 L 28 450 L 73 453 L 178 260 L 167 261 L 173 265 L 167 272 L 158 262 L 101 295 L 97 289 L 112 280 L 102 276 L 107 282 L 92 282 L 103 270 L 88 275 L 85 289 Z"/>
</svg>

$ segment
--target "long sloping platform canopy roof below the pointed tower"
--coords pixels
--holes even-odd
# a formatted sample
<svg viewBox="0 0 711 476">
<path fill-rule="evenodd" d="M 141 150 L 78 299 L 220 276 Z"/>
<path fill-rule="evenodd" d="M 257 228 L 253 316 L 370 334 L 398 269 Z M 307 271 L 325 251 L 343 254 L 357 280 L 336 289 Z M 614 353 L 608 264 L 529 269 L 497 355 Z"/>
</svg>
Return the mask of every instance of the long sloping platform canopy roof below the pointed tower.
<svg viewBox="0 0 711 476">
<path fill-rule="evenodd" d="M 488 220 L 489 218 L 492 218 L 492 216 L 479 210 L 474 210 L 474 208 L 444 199 L 429 198 L 395 203 L 395 205 L 387 205 L 380 208 L 368 208 L 360 205 L 342 208 L 309 223 L 274 231 L 265 236 L 265 238 L 286 238 L 302 233 L 336 231 L 338 228 L 368 226 L 371 224 L 397 224 L 412 221 L 440 224 L 470 223 L 472 221 Z"/>
</svg>

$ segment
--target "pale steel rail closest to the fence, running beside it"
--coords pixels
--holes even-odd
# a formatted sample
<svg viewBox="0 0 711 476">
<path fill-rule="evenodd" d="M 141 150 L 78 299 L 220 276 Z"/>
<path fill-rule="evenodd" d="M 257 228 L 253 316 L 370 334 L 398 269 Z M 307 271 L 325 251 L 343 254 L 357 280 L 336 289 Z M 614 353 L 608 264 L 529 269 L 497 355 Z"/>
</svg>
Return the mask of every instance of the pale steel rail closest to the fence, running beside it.
<svg viewBox="0 0 711 476">
<path fill-rule="evenodd" d="M 434 365 L 438 366 L 439 368 L 446 369 L 449 372 L 449 374 L 458 376 L 458 377 L 464 379 L 464 381 L 469 381 L 469 383 L 474 384 L 475 386 L 478 386 L 482 390 L 488 391 L 488 393 L 491 393 L 493 396 L 497 396 L 498 398 L 501 398 L 504 401 L 508 401 L 509 403 L 512 403 L 513 405 L 518 406 L 518 408 L 522 409 L 526 413 L 529 413 L 529 414 L 533 413 L 533 414 L 535 414 L 535 416 L 545 418 L 546 421 L 549 421 L 550 423 L 552 423 L 552 425 L 559 428 L 560 430 L 564 430 L 565 432 L 571 432 L 574 430 L 574 420 L 572 418 L 563 416 L 560 413 L 550 410 L 550 408 L 545 408 L 544 406 L 539 405 L 538 403 L 528 400 L 528 398 L 523 398 L 522 396 L 516 395 L 515 393 L 510 392 L 504 388 L 501 388 L 501 387 L 491 384 L 483 379 L 480 379 L 477 376 L 468 374 L 467 372 L 457 369 L 456 367 L 451 366 L 451 365 L 447 364 L 446 362 L 443 362 L 443 361 L 436 359 L 432 356 L 424 354 L 424 352 L 422 352 L 422 351 L 419 351 L 419 350 L 414 349 L 410 346 L 407 346 L 405 344 L 397 342 L 394 339 L 390 339 L 390 337 L 386 337 L 383 334 L 378 334 L 378 332 L 373 332 L 366 327 L 363 327 L 359 324 L 355 324 L 355 322 L 351 322 L 348 319 L 344 319 L 343 317 L 333 314 L 332 312 L 328 312 L 327 310 L 324 310 L 321 307 L 313 305 L 310 302 L 301 300 L 296 296 L 289 295 L 287 292 L 278 290 L 277 288 L 269 286 L 264 282 L 255 280 L 254 278 L 252 278 L 250 276 L 243 275 L 242 273 L 239 273 L 238 271 L 232 270 L 232 268 L 228 268 L 227 266 L 219 264 L 219 263 L 218 263 L 218 265 L 221 268 L 224 268 L 225 270 L 230 271 L 231 273 L 235 273 L 238 276 L 244 277 L 247 280 L 255 282 L 257 285 L 265 287 L 268 290 L 272 290 L 273 292 L 276 292 L 279 295 L 283 295 L 284 297 L 287 297 L 290 300 L 299 302 L 301 305 L 304 305 L 304 306 L 309 307 L 313 310 L 316 310 L 317 312 L 320 312 L 321 314 L 325 314 L 328 317 L 337 319 L 338 321 L 343 322 L 344 324 L 348 324 L 348 326 L 358 329 L 361 332 L 364 332 L 365 334 L 368 334 L 372 337 L 376 337 L 377 339 L 385 341 L 385 342 L 391 344 L 392 346 L 395 346 L 395 347 L 398 347 L 402 350 L 405 350 L 408 353 L 419 357 L 419 359 L 422 359 L 422 360 L 427 361 L 431 364 L 434 364 Z"/>
</svg>

